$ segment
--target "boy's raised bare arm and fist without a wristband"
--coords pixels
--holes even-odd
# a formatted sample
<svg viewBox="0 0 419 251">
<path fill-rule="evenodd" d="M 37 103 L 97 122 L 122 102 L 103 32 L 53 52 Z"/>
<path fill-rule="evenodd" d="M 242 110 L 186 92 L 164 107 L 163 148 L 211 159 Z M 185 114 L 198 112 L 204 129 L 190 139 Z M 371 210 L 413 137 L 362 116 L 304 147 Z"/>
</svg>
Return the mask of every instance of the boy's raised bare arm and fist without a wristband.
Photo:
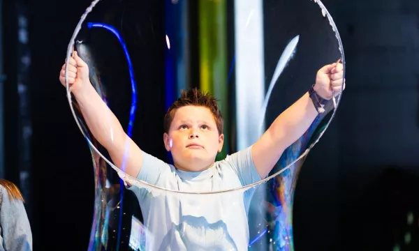
<svg viewBox="0 0 419 251">
<path fill-rule="evenodd" d="M 65 85 L 65 67 L 59 76 Z M 142 151 L 126 135 L 115 114 L 103 102 L 89 80 L 89 67 L 74 52 L 68 64 L 68 84 L 78 101 L 83 118 L 98 142 L 105 147 L 114 164 L 121 168 L 125 155 L 125 172 L 137 177 L 142 165 Z"/>
</svg>

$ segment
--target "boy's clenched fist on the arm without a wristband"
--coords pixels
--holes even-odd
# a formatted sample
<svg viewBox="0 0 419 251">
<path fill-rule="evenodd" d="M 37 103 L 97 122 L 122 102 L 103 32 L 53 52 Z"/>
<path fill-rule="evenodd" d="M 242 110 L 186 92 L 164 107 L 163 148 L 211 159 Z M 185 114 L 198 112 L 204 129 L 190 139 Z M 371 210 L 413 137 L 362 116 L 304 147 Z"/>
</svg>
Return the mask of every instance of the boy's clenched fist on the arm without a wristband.
<svg viewBox="0 0 419 251">
<path fill-rule="evenodd" d="M 63 86 L 66 86 L 66 63 L 64 63 L 59 74 L 59 82 Z M 73 52 L 73 56 L 68 62 L 68 85 L 71 87 L 71 91 L 74 92 L 77 89 L 87 86 L 89 84 L 89 66 L 84 63 L 77 52 Z"/>
</svg>

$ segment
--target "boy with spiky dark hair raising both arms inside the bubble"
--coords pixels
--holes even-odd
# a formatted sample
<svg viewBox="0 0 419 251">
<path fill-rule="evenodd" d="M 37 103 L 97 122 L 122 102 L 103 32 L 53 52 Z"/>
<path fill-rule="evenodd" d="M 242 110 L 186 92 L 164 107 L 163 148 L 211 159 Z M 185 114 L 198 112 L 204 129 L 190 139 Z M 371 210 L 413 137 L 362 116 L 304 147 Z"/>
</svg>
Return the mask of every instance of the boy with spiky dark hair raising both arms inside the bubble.
<svg viewBox="0 0 419 251">
<path fill-rule="evenodd" d="M 65 64 L 60 82 L 65 85 Z M 68 65 L 68 84 L 89 130 L 108 150 L 117 167 L 147 183 L 183 192 L 240 188 L 265 178 L 284 150 L 309 128 L 321 110 L 319 100 L 340 93 L 343 66 L 332 63 L 316 75 L 316 84 L 280 114 L 258 142 L 214 162 L 223 147 L 223 119 L 216 100 L 194 89 L 183 91 L 164 119 L 163 142 L 174 165 L 142 151 L 89 82 L 89 68 L 74 52 Z M 103 117 L 110 115 L 110 122 Z M 113 132 L 111 137 L 110 132 Z M 126 144 L 128 142 L 128 152 Z M 156 196 L 131 187 L 145 219 L 147 250 L 247 250 L 247 212 L 252 192 L 202 197 Z M 199 195 L 198 195 L 199 197 Z"/>
</svg>

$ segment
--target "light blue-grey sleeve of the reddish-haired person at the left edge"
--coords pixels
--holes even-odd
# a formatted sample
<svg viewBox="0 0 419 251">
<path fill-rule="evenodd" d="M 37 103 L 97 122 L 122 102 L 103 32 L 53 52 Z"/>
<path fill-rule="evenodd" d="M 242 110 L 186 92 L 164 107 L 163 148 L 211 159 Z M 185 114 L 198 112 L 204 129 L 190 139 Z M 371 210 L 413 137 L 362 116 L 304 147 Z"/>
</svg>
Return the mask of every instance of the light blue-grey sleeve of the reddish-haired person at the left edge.
<svg viewBox="0 0 419 251">
<path fill-rule="evenodd" d="M 0 187 L 0 227 L 5 250 L 32 250 L 32 232 L 23 202 L 11 200 L 6 188 Z"/>
</svg>

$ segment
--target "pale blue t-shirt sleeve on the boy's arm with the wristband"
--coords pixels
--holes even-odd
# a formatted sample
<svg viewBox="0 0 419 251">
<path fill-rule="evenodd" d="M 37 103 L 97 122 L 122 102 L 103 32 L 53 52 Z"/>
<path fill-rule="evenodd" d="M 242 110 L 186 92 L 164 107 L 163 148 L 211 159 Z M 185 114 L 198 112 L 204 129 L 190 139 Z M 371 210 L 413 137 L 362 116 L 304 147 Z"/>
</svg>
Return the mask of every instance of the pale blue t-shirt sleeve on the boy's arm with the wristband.
<svg viewBox="0 0 419 251">
<path fill-rule="evenodd" d="M 226 161 L 233 167 L 242 185 L 250 185 L 261 180 L 251 158 L 251 147 L 228 155 Z"/>
</svg>

